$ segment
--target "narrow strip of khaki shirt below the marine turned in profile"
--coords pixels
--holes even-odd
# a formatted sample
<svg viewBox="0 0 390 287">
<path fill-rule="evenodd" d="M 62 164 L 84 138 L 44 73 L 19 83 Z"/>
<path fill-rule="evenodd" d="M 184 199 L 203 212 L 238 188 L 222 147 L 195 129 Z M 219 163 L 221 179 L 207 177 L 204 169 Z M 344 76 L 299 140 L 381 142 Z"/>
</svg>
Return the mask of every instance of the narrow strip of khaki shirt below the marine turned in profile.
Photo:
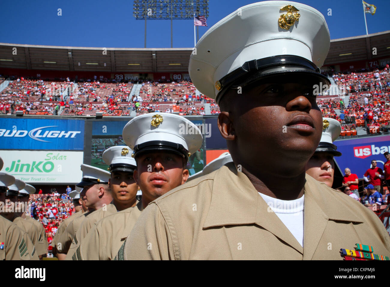
<svg viewBox="0 0 390 287">
<path fill-rule="evenodd" d="M 71 247 L 69 248 L 69 251 L 66 255 L 66 260 L 72 260 L 72 257 L 75 254 L 78 246 L 80 246 L 81 241 L 84 239 L 85 236 L 87 236 L 88 231 L 97 221 L 116 212 L 117 208 L 115 207 L 115 205 L 110 203 L 87 215 L 83 220 L 82 224 L 80 225 L 80 228 L 78 228 L 76 235 L 74 235 Z"/>
</svg>

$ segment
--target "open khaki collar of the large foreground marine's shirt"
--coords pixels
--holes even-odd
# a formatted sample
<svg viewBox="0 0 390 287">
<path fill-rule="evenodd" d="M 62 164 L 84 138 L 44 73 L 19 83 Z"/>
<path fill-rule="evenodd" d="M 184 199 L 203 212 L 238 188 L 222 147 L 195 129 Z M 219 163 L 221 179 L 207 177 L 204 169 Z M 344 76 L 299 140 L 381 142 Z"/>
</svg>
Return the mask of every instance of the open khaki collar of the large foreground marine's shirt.
<svg viewBox="0 0 390 287">
<path fill-rule="evenodd" d="M 210 207 L 203 229 L 213 226 L 255 224 L 303 253 L 299 242 L 277 215 L 269 211 L 267 203 L 262 199 L 249 178 L 244 173 L 237 171 L 233 162 L 218 169 L 213 180 Z M 348 207 L 348 198 L 343 198 L 337 193 L 326 184 L 306 175 L 304 216 L 313 219 L 312 221 L 305 220 L 304 223 L 304 230 L 307 232 L 307 234 L 304 233 L 304 244 L 307 241 L 305 246 L 308 245 L 308 249 L 318 244 L 328 220 L 364 222 L 362 216 Z M 318 226 L 321 226 L 322 231 L 316 231 Z M 308 254 L 314 253 L 314 250 Z"/>
</svg>

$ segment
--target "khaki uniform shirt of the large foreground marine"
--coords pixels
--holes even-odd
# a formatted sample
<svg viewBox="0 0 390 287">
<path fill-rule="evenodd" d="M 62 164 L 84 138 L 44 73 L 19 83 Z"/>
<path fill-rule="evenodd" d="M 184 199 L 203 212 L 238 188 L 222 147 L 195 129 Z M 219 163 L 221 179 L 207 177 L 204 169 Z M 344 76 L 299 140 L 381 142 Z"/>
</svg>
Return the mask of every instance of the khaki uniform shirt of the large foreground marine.
<svg viewBox="0 0 390 287">
<path fill-rule="evenodd" d="M 389 234 L 372 210 L 309 175 L 304 195 L 302 247 L 248 177 L 226 164 L 152 201 L 124 259 L 342 260 L 340 248 L 355 243 L 390 256 Z"/>
</svg>

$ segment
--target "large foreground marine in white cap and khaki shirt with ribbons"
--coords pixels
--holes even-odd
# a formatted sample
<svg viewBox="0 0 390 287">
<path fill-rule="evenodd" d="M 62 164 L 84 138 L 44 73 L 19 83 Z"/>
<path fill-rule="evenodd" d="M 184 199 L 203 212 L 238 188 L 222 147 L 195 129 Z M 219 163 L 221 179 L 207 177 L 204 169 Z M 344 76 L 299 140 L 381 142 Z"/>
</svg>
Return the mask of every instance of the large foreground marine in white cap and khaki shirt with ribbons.
<svg viewBox="0 0 390 287">
<path fill-rule="evenodd" d="M 305 173 L 323 130 L 315 87 L 330 84 L 319 73 L 329 46 L 324 16 L 289 1 L 246 5 L 204 34 L 189 73 L 220 106 L 234 163 L 154 200 L 128 259 L 342 260 L 356 242 L 390 255 L 371 210 Z"/>
</svg>

